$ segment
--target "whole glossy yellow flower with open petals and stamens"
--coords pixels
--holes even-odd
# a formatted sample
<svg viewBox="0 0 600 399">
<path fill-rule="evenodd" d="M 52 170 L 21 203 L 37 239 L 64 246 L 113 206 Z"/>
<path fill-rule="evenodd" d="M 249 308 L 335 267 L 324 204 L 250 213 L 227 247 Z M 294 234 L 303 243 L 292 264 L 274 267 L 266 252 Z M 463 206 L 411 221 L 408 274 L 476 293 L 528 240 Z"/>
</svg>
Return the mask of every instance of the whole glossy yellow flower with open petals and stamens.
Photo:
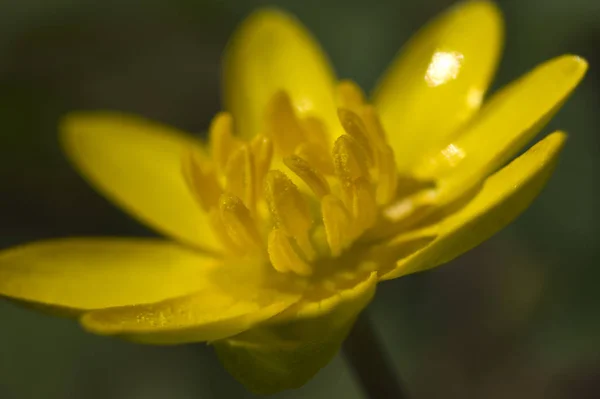
<svg viewBox="0 0 600 399">
<path fill-rule="evenodd" d="M 62 124 L 80 172 L 169 239 L 12 248 L 0 253 L 0 294 L 97 334 L 211 342 L 256 392 L 298 387 L 379 281 L 478 245 L 552 173 L 561 132 L 506 164 L 586 62 L 547 61 L 480 107 L 501 44 L 492 3 L 460 4 L 406 45 L 367 102 L 298 21 L 258 11 L 227 48 L 225 112 L 206 143 L 112 112 Z"/>
</svg>

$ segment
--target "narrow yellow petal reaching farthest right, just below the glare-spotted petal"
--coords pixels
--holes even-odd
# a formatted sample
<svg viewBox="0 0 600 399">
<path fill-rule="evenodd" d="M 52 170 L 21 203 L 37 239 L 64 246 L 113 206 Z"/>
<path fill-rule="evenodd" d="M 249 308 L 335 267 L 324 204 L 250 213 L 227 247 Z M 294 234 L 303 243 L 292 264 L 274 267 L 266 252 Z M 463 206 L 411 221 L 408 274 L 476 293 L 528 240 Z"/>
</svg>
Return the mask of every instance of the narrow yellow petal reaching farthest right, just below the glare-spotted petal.
<svg viewBox="0 0 600 399">
<path fill-rule="evenodd" d="M 587 63 L 565 55 L 547 61 L 495 94 L 466 131 L 413 170 L 440 188 L 467 190 L 514 156 L 579 83 Z M 446 187 L 442 187 L 446 186 Z"/>
</svg>

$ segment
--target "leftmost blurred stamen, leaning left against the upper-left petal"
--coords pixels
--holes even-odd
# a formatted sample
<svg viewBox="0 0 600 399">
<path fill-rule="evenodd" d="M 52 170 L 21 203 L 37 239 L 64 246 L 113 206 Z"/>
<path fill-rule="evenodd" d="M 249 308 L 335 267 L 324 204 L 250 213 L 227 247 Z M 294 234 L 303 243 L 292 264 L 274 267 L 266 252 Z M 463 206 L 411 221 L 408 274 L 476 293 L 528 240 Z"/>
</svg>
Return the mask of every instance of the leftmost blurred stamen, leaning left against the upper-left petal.
<svg viewBox="0 0 600 399">
<path fill-rule="evenodd" d="M 181 166 L 184 180 L 202 209 L 208 212 L 217 206 L 222 190 L 210 162 L 201 159 L 195 151 L 190 151 L 183 157 Z"/>
</svg>

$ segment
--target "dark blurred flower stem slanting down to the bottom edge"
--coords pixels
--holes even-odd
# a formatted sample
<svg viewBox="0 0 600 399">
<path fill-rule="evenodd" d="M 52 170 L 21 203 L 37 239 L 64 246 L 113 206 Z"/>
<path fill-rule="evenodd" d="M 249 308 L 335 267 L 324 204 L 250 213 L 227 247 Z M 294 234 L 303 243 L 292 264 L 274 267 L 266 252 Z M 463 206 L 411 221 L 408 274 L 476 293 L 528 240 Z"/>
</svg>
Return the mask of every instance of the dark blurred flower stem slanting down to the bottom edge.
<svg viewBox="0 0 600 399">
<path fill-rule="evenodd" d="M 367 312 L 362 312 L 356 320 L 343 352 L 367 398 L 408 399 Z"/>
</svg>

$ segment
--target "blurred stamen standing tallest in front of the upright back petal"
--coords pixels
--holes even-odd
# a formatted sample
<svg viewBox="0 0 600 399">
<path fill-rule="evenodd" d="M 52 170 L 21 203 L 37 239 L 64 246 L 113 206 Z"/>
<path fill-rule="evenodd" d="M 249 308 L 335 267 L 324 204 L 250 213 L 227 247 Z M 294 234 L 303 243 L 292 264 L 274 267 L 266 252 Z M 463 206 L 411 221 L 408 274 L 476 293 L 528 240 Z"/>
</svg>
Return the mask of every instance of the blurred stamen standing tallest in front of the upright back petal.
<svg viewBox="0 0 600 399">
<path fill-rule="evenodd" d="M 284 156 L 293 154 L 296 147 L 307 141 L 290 97 L 285 91 L 275 93 L 267 106 L 266 132 Z"/>
</svg>

